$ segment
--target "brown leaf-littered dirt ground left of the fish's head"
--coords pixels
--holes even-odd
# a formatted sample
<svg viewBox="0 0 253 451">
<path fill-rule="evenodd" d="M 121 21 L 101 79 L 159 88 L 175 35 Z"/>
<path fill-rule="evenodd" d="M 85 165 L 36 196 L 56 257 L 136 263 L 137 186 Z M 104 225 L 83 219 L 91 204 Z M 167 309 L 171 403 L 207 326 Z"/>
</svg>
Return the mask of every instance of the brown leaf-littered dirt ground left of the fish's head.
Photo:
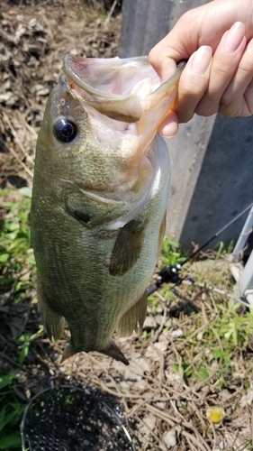
<svg viewBox="0 0 253 451">
<path fill-rule="evenodd" d="M 106 22 L 106 15 L 98 8 L 100 3 L 2 2 L 2 187 L 7 182 L 18 187 L 32 183 L 35 143 L 44 106 L 62 73 L 66 53 L 95 58 L 116 56 L 121 17 Z"/>
</svg>

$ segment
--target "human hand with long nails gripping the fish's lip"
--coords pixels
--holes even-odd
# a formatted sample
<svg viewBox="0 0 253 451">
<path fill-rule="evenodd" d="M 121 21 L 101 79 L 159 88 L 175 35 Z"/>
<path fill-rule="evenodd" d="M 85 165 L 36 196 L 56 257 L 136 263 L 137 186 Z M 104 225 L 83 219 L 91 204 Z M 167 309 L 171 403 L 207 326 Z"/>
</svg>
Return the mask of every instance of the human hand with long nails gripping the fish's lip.
<svg viewBox="0 0 253 451">
<path fill-rule="evenodd" d="M 253 2 L 214 0 L 188 11 L 150 51 L 162 80 L 189 59 L 178 96 L 159 133 L 172 136 L 194 113 L 253 114 Z"/>
</svg>

